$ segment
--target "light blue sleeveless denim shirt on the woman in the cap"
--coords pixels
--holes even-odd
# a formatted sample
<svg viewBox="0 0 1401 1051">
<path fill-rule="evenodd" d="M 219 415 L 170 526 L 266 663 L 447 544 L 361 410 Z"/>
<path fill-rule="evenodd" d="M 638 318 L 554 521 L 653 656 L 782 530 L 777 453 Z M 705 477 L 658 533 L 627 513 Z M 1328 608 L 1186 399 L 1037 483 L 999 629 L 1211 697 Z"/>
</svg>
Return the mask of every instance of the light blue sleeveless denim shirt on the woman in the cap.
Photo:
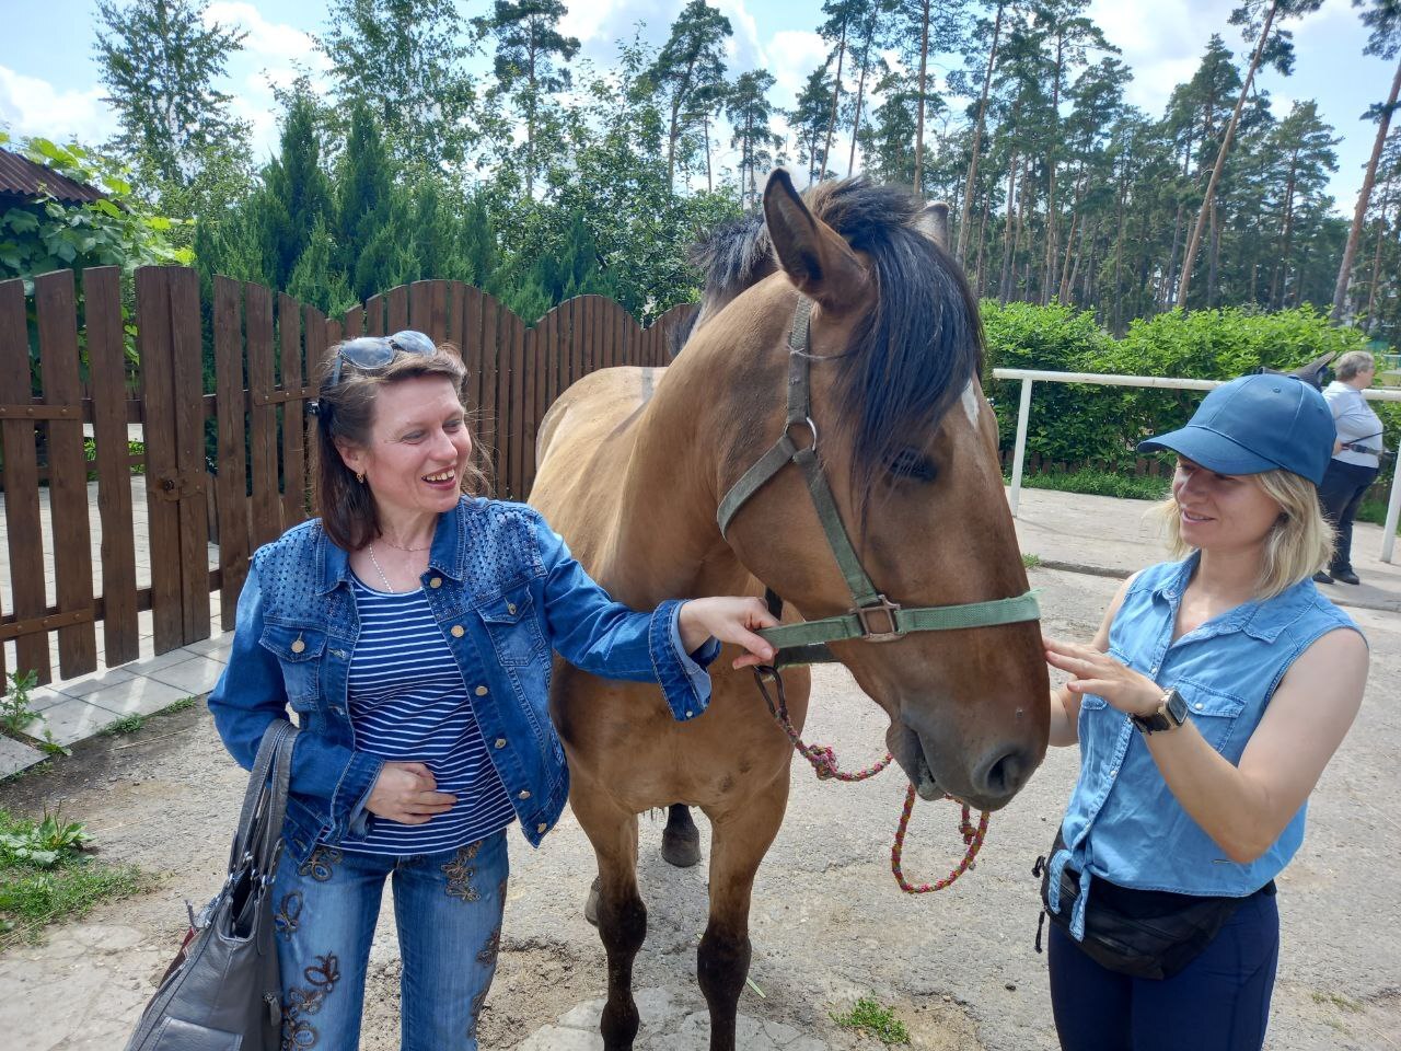
<svg viewBox="0 0 1401 1051">
<path fill-rule="evenodd" d="M 1295 657 L 1321 635 L 1356 625 L 1302 580 L 1274 598 L 1251 601 L 1173 642 L 1177 610 L 1199 555 L 1145 569 L 1110 626 L 1110 656 L 1164 689 L 1175 688 L 1188 716 L 1216 751 L 1240 762 L 1269 698 Z M 1061 872 L 1080 873 L 1070 933 L 1084 937 L 1084 904 L 1096 876 L 1133 890 L 1245 897 L 1272 880 L 1304 838 L 1307 804 L 1248 865 L 1222 849 L 1182 810 L 1129 716 L 1104 698 L 1080 702 L 1080 779 L 1051 859 L 1049 907 L 1061 911 Z"/>
</svg>

